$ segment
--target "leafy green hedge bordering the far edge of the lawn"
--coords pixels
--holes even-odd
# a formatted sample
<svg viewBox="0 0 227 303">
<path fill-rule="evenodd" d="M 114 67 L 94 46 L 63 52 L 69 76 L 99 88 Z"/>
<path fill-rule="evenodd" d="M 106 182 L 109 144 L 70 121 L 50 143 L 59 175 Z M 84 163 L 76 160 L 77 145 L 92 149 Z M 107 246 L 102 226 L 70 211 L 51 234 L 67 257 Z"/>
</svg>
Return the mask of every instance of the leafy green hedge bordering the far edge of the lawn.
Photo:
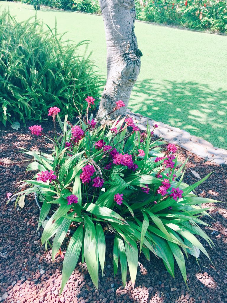
<svg viewBox="0 0 227 303">
<path fill-rule="evenodd" d="M 32 4 L 33 0 L 21 0 Z M 100 14 L 98 0 L 40 0 L 41 5 Z M 226 0 L 136 0 L 136 18 L 141 21 L 181 25 L 188 28 L 211 31 L 227 31 Z"/>
</svg>

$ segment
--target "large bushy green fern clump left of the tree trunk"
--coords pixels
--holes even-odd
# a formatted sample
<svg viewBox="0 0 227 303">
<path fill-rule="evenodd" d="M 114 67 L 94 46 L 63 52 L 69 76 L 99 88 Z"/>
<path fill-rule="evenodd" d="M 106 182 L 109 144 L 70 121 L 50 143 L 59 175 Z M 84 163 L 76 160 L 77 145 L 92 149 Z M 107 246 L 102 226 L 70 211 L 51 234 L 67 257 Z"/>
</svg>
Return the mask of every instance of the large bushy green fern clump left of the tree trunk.
<svg viewBox="0 0 227 303">
<path fill-rule="evenodd" d="M 99 96 L 99 76 L 88 57 L 37 20 L 0 16 L 0 120 L 41 120 L 51 105 L 72 118 L 87 93 Z"/>
</svg>

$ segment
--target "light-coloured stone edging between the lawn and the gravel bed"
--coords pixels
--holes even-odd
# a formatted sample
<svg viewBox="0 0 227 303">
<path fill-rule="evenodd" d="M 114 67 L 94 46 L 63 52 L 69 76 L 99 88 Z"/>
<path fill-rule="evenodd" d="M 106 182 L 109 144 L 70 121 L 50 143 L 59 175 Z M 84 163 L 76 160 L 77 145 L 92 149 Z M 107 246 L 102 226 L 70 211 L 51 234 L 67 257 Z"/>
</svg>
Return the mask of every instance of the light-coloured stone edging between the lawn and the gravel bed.
<svg viewBox="0 0 227 303">
<path fill-rule="evenodd" d="M 153 125 L 156 123 L 158 128 L 154 130 L 154 134 L 163 138 L 165 141 L 174 143 L 207 161 L 220 165 L 227 164 L 227 151 L 225 149 L 214 147 L 208 141 L 192 136 L 184 129 L 154 121 L 141 114 L 135 114 L 131 112 L 130 109 L 127 110 L 127 114 L 133 118 L 134 123 L 137 124 L 141 130 L 146 130 L 147 121 L 151 128 L 153 128 Z"/>
</svg>

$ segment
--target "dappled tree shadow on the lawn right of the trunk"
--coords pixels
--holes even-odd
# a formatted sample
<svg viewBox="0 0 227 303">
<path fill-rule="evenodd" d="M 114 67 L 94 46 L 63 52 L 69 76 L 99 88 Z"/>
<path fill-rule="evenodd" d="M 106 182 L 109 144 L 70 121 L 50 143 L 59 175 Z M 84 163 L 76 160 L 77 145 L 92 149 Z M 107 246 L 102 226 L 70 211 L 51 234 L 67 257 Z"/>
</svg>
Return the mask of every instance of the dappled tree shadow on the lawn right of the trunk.
<svg viewBox="0 0 227 303">
<path fill-rule="evenodd" d="M 227 148 L 227 90 L 214 91 L 196 82 L 146 79 L 136 83 L 130 100 L 134 112 Z"/>
</svg>

